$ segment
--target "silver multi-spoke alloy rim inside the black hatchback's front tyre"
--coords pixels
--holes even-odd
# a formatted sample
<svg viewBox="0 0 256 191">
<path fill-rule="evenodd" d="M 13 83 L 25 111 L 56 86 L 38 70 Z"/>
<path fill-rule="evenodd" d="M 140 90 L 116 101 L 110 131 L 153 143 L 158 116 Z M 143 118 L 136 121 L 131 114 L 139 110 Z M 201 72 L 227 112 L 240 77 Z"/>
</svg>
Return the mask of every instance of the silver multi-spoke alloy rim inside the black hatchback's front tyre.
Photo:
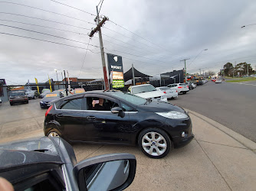
<svg viewBox="0 0 256 191">
<path fill-rule="evenodd" d="M 148 132 L 144 134 L 141 144 L 143 150 L 151 156 L 160 156 L 167 149 L 166 139 L 158 132 Z"/>
</svg>

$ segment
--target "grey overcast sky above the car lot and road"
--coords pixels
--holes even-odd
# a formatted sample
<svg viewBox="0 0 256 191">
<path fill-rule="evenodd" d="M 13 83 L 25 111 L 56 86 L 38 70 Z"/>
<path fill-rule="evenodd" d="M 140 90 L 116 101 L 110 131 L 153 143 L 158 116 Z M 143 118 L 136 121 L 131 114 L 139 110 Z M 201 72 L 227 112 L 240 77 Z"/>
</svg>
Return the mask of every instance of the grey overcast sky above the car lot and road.
<svg viewBox="0 0 256 191">
<path fill-rule="evenodd" d="M 54 69 L 59 79 L 63 70 L 103 78 L 99 36 L 87 35 L 99 2 L 0 0 L 0 79 L 57 80 Z M 123 57 L 124 72 L 133 64 L 152 76 L 182 70 L 186 58 L 188 73 L 218 72 L 227 62 L 254 68 L 255 10 L 254 0 L 103 0 L 100 15 L 110 19 L 102 28 L 104 50 Z M 241 28 L 248 24 L 254 25 Z"/>
</svg>

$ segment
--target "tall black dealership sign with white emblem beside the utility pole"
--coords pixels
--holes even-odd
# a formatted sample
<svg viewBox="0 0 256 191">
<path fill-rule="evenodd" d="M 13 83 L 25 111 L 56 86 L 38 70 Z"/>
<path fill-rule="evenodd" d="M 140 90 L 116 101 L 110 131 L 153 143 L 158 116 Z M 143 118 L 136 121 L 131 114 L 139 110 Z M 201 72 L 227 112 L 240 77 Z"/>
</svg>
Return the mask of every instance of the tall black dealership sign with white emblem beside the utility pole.
<svg viewBox="0 0 256 191">
<path fill-rule="evenodd" d="M 108 71 L 110 83 L 113 88 L 123 88 L 123 61 L 122 57 L 107 53 Z"/>
</svg>

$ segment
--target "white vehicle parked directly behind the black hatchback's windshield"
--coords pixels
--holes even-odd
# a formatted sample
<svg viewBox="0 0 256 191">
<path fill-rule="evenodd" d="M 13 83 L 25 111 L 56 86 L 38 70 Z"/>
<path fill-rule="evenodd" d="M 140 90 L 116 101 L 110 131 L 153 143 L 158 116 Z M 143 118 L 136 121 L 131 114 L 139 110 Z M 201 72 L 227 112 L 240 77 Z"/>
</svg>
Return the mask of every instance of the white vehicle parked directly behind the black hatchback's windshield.
<svg viewBox="0 0 256 191">
<path fill-rule="evenodd" d="M 166 95 L 163 92 L 156 90 L 156 88 L 151 84 L 130 86 L 128 92 L 145 99 L 162 100 L 167 102 Z"/>
</svg>

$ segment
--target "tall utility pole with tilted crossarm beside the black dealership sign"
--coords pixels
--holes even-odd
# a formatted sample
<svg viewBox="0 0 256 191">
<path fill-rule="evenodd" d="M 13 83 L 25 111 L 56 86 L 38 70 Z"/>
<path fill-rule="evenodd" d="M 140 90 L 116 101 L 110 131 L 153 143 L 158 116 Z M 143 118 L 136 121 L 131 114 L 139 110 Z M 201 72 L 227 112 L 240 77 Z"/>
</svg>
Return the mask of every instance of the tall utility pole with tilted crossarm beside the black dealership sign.
<svg viewBox="0 0 256 191">
<path fill-rule="evenodd" d="M 104 17 L 102 21 L 100 21 L 100 16 L 99 16 L 99 11 L 98 11 L 98 6 L 96 6 L 96 11 L 97 11 L 97 17 L 95 18 L 94 21 L 97 21 L 97 27 L 94 28 L 93 31 L 90 32 L 89 37 L 93 37 L 94 34 L 99 31 L 99 40 L 100 40 L 100 53 L 101 53 L 101 61 L 102 61 L 102 67 L 103 67 L 103 76 L 104 76 L 104 89 L 110 89 L 109 84 L 108 84 L 108 79 L 107 79 L 107 69 L 106 69 L 106 61 L 105 61 L 105 55 L 104 55 L 104 49 L 103 49 L 103 40 L 102 40 L 102 34 L 101 34 L 101 27 L 105 23 L 105 21 L 108 20 L 107 17 Z"/>
</svg>

